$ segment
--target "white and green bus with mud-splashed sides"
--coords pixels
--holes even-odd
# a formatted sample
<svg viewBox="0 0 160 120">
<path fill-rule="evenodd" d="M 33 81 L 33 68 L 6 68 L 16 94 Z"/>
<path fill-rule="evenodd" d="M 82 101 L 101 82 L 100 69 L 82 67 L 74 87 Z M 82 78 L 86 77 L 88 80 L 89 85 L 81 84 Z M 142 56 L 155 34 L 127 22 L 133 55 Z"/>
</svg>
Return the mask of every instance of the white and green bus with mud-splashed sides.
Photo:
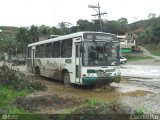
<svg viewBox="0 0 160 120">
<path fill-rule="evenodd" d="M 119 40 L 104 32 L 77 32 L 28 45 L 30 73 L 63 80 L 64 84 L 119 82 Z"/>
</svg>

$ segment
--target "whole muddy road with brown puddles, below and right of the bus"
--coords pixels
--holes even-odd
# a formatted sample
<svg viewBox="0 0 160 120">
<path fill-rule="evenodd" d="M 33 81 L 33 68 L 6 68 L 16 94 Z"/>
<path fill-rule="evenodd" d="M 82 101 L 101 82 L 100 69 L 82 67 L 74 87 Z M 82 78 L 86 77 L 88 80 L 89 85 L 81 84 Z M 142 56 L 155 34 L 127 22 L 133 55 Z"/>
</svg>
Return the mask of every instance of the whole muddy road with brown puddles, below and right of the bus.
<svg viewBox="0 0 160 120">
<path fill-rule="evenodd" d="M 73 108 L 85 102 L 86 98 L 120 102 L 133 109 L 143 109 L 145 113 L 160 113 L 160 61 L 155 59 L 121 65 L 122 81 L 119 84 L 112 83 L 110 86 L 97 89 L 78 85 L 65 87 L 63 82 L 30 75 L 26 71 L 26 66 L 17 67 L 33 79 L 41 81 L 48 88 L 46 91 L 35 92 L 27 97 L 37 99 L 46 96 L 45 100 L 50 100 L 52 97 L 48 96 L 57 95 L 57 99 L 72 100 L 72 103 L 75 103 L 62 104 L 54 108 L 44 107 L 39 111 L 40 113 L 60 113 L 65 108 Z"/>
</svg>

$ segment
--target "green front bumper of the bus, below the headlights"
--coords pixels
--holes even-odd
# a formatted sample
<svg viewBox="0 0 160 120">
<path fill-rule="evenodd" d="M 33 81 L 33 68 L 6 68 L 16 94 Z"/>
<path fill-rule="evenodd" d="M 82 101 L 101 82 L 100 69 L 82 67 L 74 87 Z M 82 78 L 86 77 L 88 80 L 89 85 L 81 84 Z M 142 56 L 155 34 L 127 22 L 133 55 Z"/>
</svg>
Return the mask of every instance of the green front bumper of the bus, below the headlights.
<svg viewBox="0 0 160 120">
<path fill-rule="evenodd" d="M 121 76 L 114 77 L 83 77 L 82 84 L 83 85 L 96 85 L 98 83 L 112 83 L 112 82 L 120 82 Z"/>
</svg>

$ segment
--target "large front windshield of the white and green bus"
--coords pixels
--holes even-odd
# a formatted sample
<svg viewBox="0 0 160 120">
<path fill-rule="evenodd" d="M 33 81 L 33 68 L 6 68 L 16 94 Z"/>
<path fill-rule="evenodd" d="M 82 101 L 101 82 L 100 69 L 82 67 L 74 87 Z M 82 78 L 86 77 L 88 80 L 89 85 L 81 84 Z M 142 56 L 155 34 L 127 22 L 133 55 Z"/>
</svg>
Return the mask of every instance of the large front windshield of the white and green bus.
<svg viewBox="0 0 160 120">
<path fill-rule="evenodd" d="M 82 53 L 83 66 L 116 66 L 118 60 L 118 42 L 85 41 Z"/>
</svg>

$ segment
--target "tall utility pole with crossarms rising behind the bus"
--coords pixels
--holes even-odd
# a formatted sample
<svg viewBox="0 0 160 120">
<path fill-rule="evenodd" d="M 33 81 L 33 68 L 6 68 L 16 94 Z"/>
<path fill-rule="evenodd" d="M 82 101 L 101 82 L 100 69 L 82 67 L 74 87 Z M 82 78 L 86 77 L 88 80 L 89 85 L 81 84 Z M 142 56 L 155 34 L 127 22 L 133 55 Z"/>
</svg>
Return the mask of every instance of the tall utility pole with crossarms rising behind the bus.
<svg viewBox="0 0 160 120">
<path fill-rule="evenodd" d="M 106 12 L 104 12 L 104 13 L 101 13 L 100 12 L 100 5 L 99 5 L 99 3 L 98 3 L 98 5 L 88 5 L 88 8 L 93 8 L 96 12 L 97 12 L 97 14 L 94 14 L 94 15 L 92 15 L 92 16 L 98 16 L 98 19 L 99 19 L 99 24 L 100 24 L 100 31 L 102 32 L 102 20 L 101 20 L 101 15 L 105 15 L 105 14 L 107 14 Z M 98 9 L 98 10 L 97 10 Z"/>
</svg>

